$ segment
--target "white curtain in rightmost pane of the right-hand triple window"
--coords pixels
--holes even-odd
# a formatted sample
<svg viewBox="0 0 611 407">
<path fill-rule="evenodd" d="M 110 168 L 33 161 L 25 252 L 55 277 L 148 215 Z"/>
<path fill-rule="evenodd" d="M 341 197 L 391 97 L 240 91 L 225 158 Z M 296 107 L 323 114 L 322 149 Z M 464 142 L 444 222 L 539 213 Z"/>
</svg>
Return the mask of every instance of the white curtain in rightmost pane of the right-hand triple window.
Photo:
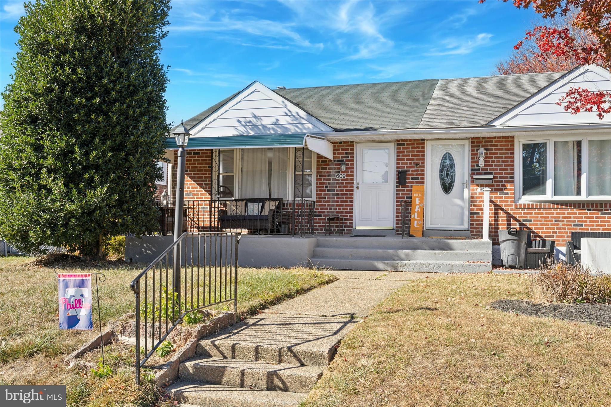
<svg viewBox="0 0 611 407">
<path fill-rule="evenodd" d="M 611 139 L 588 140 L 588 195 L 611 195 Z"/>
</svg>

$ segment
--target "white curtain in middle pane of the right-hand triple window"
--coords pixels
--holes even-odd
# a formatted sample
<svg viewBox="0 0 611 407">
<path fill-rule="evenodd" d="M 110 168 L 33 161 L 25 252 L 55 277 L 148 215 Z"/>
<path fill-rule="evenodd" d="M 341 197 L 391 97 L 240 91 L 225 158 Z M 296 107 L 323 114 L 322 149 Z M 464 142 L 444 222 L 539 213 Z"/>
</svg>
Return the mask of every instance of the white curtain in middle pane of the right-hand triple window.
<svg viewBox="0 0 611 407">
<path fill-rule="evenodd" d="M 581 195 L 577 189 L 581 176 L 581 157 L 577 156 L 579 141 L 554 142 L 554 195 Z"/>
</svg>

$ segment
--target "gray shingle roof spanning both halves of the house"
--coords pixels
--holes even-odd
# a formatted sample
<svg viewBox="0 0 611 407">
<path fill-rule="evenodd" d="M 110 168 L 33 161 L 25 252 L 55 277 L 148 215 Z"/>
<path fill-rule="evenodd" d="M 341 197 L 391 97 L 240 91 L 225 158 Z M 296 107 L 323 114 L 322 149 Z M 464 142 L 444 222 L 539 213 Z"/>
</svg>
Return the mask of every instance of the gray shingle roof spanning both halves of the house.
<svg viewBox="0 0 611 407">
<path fill-rule="evenodd" d="M 335 131 L 474 127 L 488 124 L 563 74 L 424 79 L 274 92 Z M 192 129 L 238 93 L 186 120 L 185 126 Z"/>
</svg>

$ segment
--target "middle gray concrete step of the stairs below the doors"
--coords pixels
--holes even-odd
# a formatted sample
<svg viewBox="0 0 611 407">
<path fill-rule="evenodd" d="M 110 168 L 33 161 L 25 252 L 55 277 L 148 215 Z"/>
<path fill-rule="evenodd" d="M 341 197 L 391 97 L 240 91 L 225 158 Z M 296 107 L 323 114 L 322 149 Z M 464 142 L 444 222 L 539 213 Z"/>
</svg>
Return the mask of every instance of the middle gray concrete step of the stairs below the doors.
<svg viewBox="0 0 611 407">
<path fill-rule="evenodd" d="M 355 259 L 384 261 L 492 261 L 489 250 L 386 250 L 342 247 L 316 247 L 316 259 Z"/>
</svg>

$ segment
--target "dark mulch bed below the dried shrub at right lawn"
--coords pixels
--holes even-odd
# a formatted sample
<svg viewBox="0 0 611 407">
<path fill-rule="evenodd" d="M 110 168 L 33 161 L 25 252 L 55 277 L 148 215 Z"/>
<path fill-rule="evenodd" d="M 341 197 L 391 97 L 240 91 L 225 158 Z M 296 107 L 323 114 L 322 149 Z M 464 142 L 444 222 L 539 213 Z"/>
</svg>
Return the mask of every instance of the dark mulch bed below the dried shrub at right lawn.
<svg viewBox="0 0 611 407">
<path fill-rule="evenodd" d="M 531 317 L 547 317 L 611 327 L 611 304 L 535 303 L 527 300 L 497 300 L 491 308 Z"/>
</svg>

